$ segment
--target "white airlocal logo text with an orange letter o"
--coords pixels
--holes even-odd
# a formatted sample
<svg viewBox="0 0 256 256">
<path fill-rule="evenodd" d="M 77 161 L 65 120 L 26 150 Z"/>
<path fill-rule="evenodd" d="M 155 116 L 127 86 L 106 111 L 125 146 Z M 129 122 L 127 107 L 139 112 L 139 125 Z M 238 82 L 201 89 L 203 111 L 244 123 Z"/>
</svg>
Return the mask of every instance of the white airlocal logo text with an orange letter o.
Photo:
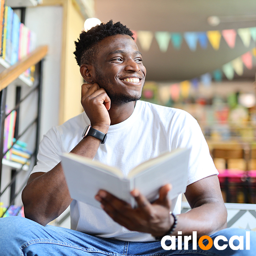
<svg viewBox="0 0 256 256">
<path fill-rule="evenodd" d="M 182 235 L 182 231 L 178 231 L 178 235 Z M 208 240 L 208 244 L 204 245 L 203 241 L 204 239 Z M 167 246 L 165 242 L 167 240 L 170 240 L 172 242 L 171 245 Z M 189 247 L 189 241 L 192 240 L 192 250 L 197 250 L 197 235 L 196 231 L 193 231 L 192 238 L 191 236 L 184 236 L 184 250 L 188 250 Z M 198 240 L 198 246 L 202 250 L 209 250 L 212 248 L 212 244 L 217 250 L 224 250 L 227 248 L 227 245 L 229 244 L 230 248 L 232 250 L 244 250 L 244 236 L 231 236 L 230 240 L 227 244 L 223 244 L 222 246 L 218 245 L 218 241 L 223 240 L 227 242 L 227 238 L 225 236 L 216 236 L 214 241 L 212 241 L 212 238 L 209 236 L 201 236 Z M 239 241 L 239 245 L 234 245 L 234 240 Z M 182 236 L 177 236 L 178 241 L 178 250 L 182 250 Z M 161 246 L 164 250 L 176 250 L 176 236 L 164 236 L 161 240 Z M 245 250 L 250 250 L 250 231 L 246 231 L 245 234 Z"/>
</svg>

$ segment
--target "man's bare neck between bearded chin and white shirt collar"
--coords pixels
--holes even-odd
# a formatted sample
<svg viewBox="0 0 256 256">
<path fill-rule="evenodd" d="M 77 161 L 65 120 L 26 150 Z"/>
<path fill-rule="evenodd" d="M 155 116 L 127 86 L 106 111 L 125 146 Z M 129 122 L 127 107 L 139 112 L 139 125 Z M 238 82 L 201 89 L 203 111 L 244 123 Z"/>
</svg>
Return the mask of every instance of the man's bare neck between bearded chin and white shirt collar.
<svg viewBox="0 0 256 256">
<path fill-rule="evenodd" d="M 108 111 L 111 124 L 116 125 L 120 122 L 125 121 L 134 111 L 136 102 L 128 102 L 122 105 L 111 105 Z"/>
</svg>

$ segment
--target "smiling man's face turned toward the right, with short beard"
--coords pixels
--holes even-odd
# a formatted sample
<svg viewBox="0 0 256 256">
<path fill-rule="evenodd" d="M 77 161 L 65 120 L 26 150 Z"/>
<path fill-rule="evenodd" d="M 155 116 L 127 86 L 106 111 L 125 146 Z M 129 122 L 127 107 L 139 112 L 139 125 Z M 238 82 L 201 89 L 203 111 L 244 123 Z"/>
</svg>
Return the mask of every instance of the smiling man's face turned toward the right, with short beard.
<svg viewBox="0 0 256 256">
<path fill-rule="evenodd" d="M 145 83 L 142 55 L 128 35 L 104 38 L 98 44 L 96 82 L 104 88 L 111 104 L 137 101 Z"/>
</svg>

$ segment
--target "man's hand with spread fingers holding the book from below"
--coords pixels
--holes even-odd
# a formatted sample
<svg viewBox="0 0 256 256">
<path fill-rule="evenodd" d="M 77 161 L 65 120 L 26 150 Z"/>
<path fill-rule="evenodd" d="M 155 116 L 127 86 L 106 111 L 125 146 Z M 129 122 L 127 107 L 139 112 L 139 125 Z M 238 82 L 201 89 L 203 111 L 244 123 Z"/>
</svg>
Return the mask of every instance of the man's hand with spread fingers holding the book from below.
<svg viewBox="0 0 256 256">
<path fill-rule="evenodd" d="M 99 190 L 95 198 L 114 221 L 128 230 L 163 236 L 174 221 L 169 214 L 171 204 L 167 195 L 170 189 L 170 184 L 161 187 L 159 198 L 152 204 L 137 189 L 134 189 L 131 195 L 137 201 L 138 207 L 135 209 L 105 190 Z"/>
</svg>

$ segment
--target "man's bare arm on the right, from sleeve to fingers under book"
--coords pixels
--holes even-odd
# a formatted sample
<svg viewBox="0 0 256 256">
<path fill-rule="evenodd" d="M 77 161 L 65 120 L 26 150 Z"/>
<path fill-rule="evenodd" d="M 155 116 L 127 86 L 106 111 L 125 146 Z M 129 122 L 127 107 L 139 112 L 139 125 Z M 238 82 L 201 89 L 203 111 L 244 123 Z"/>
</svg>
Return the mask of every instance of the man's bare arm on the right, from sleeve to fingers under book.
<svg viewBox="0 0 256 256">
<path fill-rule="evenodd" d="M 168 185 L 160 189 L 160 198 L 153 204 L 134 190 L 138 203 L 136 209 L 108 192 L 100 190 L 96 199 L 102 203 L 102 208 L 108 215 L 129 230 L 151 233 L 153 236 L 163 236 L 172 227 L 173 218 L 169 215 L 170 205 L 167 199 Z M 189 212 L 177 215 L 178 224 L 172 235 L 182 231 L 183 236 L 209 235 L 226 227 L 227 210 L 224 206 L 217 175 L 206 177 L 187 186 L 186 198 L 192 207 Z"/>
</svg>

